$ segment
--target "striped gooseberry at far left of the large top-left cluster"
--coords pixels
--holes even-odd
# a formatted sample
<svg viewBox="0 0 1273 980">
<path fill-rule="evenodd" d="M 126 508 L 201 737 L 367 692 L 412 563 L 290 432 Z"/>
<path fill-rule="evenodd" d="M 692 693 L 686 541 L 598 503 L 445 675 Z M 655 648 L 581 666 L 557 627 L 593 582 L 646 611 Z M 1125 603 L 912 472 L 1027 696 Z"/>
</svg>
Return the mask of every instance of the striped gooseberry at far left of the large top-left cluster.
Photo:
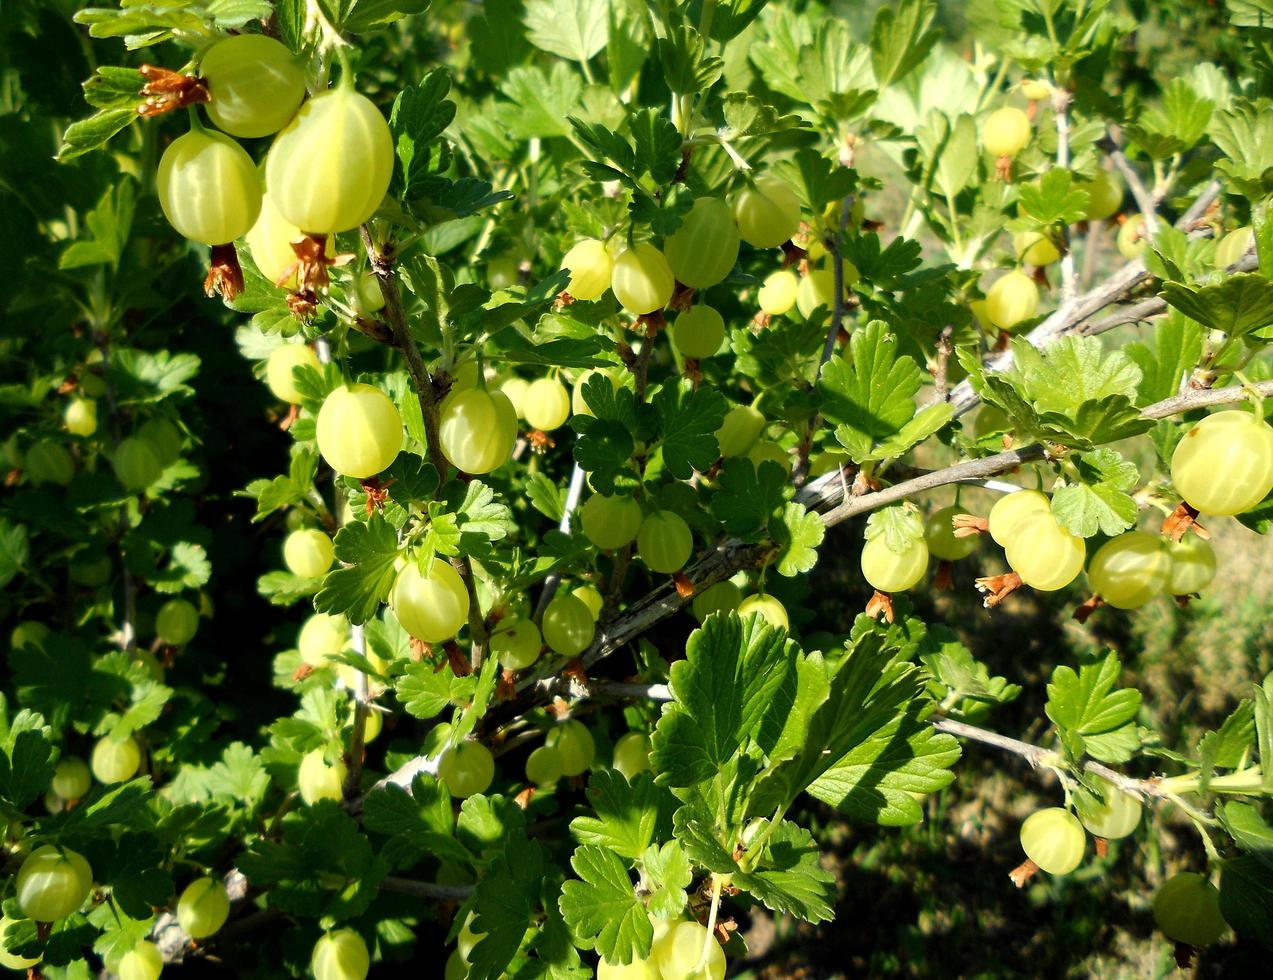
<svg viewBox="0 0 1273 980">
<path fill-rule="evenodd" d="M 202 126 L 173 140 L 155 174 L 159 206 L 192 242 L 227 244 L 248 233 L 261 213 L 261 177 L 247 151 Z"/>
</svg>

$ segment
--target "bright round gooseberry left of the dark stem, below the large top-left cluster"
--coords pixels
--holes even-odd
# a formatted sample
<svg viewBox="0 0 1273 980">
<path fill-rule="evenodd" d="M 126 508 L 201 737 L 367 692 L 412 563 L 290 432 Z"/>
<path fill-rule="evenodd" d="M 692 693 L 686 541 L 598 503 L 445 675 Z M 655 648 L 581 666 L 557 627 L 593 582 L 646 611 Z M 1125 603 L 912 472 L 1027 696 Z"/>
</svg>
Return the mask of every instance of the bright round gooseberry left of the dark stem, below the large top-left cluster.
<svg viewBox="0 0 1273 980">
<path fill-rule="evenodd" d="M 341 476 L 365 480 L 387 468 L 402 448 L 402 416 L 370 384 L 342 384 L 318 410 L 318 452 Z"/>
</svg>

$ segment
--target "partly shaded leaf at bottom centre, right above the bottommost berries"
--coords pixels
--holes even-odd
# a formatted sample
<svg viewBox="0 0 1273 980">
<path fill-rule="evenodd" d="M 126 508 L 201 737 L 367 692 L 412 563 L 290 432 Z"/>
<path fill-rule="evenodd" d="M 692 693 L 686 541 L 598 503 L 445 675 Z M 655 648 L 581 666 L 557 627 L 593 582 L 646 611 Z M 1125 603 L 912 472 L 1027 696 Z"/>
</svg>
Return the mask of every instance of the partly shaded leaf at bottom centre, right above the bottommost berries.
<svg viewBox="0 0 1273 980">
<path fill-rule="evenodd" d="M 835 874 L 820 859 L 813 835 L 784 820 L 765 843 L 755 869 L 735 874 L 732 883 L 771 911 L 807 923 L 830 921 L 835 914 Z"/>
</svg>

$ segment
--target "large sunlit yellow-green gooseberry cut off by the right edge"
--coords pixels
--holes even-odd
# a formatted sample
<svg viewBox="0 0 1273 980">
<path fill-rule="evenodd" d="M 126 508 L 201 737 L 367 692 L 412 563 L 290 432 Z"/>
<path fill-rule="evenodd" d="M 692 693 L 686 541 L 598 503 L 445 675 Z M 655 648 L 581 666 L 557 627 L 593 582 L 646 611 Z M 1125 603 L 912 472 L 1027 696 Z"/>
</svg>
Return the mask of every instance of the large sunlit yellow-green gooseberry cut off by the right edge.
<svg viewBox="0 0 1273 980">
<path fill-rule="evenodd" d="M 1208 415 L 1176 444 L 1171 482 L 1199 513 L 1250 510 L 1273 490 L 1273 426 L 1237 409 Z"/>
</svg>

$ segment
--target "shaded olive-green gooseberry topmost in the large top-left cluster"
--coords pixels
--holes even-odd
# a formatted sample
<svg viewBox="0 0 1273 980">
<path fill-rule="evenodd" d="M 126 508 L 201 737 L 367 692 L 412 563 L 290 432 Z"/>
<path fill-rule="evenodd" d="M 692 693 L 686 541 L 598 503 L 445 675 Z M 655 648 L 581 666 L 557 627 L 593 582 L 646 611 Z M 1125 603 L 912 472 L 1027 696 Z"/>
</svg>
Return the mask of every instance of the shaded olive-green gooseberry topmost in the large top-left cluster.
<svg viewBox="0 0 1273 980">
<path fill-rule="evenodd" d="M 306 94 L 306 69 L 286 46 L 265 34 L 218 41 L 199 62 L 218 129 L 255 139 L 288 125 Z"/>
</svg>

